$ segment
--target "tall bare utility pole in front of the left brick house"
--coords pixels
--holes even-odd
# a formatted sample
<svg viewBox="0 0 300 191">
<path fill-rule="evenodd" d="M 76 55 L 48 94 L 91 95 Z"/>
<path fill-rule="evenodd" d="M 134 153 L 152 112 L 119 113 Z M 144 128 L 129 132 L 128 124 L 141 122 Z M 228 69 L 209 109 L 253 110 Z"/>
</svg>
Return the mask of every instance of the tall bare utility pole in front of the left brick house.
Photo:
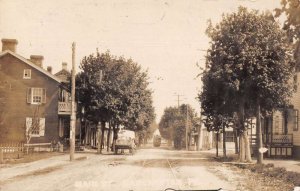
<svg viewBox="0 0 300 191">
<path fill-rule="evenodd" d="M 75 42 L 72 43 L 72 89 L 71 89 L 71 124 L 70 124 L 70 161 L 74 160 L 75 152 L 75 126 L 76 126 L 76 111 L 75 111 Z"/>
</svg>

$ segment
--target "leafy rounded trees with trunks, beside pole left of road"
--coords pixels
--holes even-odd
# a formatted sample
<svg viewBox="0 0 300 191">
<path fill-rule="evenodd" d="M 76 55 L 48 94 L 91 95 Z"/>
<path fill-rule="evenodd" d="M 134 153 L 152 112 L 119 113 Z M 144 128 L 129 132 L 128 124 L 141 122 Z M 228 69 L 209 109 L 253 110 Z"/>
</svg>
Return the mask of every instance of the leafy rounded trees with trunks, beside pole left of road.
<svg viewBox="0 0 300 191">
<path fill-rule="evenodd" d="M 109 51 L 84 57 L 80 69 L 76 76 L 77 100 L 79 108 L 85 111 L 82 117 L 95 125 L 101 124 L 99 153 L 104 145 L 106 123 L 107 142 L 113 132 L 113 145 L 120 126 L 141 136 L 152 131 L 155 115 L 147 71 L 132 59 L 113 56 Z"/>
</svg>

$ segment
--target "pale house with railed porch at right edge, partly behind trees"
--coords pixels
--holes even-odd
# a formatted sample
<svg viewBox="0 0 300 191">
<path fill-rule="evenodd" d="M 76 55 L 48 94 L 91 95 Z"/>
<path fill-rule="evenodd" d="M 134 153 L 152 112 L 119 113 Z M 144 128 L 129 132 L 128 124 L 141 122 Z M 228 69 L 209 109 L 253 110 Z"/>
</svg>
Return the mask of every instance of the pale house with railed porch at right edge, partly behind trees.
<svg viewBox="0 0 300 191">
<path fill-rule="evenodd" d="M 295 90 L 289 108 L 277 110 L 262 123 L 264 145 L 270 157 L 293 157 L 300 159 L 300 46 L 296 50 L 296 74 L 291 79 Z"/>
</svg>

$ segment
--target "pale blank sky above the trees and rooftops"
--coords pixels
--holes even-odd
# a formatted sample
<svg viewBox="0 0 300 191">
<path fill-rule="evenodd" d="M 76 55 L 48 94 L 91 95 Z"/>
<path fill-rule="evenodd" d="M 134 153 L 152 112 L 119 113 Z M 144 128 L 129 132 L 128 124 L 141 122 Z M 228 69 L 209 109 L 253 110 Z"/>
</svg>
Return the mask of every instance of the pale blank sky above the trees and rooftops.
<svg viewBox="0 0 300 191">
<path fill-rule="evenodd" d="M 77 71 L 97 48 L 132 58 L 149 73 L 159 122 L 177 95 L 199 113 L 197 63 L 204 66 L 209 48 L 207 21 L 216 24 L 239 6 L 272 11 L 280 0 L 0 0 L 0 38 L 17 39 L 25 58 L 43 55 L 53 73 L 62 62 L 71 69 L 72 42 Z"/>
</svg>

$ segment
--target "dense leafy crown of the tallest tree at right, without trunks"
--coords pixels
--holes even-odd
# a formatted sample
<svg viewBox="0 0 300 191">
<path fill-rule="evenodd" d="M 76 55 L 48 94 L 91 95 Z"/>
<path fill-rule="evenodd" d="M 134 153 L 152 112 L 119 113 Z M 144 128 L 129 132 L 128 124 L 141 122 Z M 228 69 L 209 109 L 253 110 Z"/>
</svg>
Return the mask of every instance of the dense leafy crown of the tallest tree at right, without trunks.
<svg viewBox="0 0 300 191">
<path fill-rule="evenodd" d="M 294 71 L 292 49 L 269 13 L 240 7 L 216 26 L 210 24 L 207 34 L 211 47 L 200 95 L 204 114 L 217 110 L 232 116 L 241 101 L 249 115 L 257 100 L 266 112 L 287 105 Z M 225 105 L 220 107 L 222 102 Z"/>
</svg>

